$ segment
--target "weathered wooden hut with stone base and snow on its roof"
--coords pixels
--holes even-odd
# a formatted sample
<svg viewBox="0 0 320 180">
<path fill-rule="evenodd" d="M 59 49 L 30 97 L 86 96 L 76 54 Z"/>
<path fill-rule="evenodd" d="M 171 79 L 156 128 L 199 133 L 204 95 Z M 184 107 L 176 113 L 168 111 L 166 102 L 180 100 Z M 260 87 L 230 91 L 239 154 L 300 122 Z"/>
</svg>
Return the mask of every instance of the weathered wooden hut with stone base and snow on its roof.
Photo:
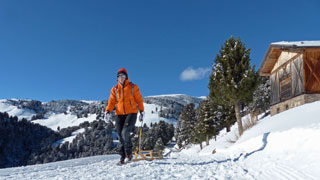
<svg viewBox="0 0 320 180">
<path fill-rule="evenodd" d="M 271 115 L 320 100 L 320 41 L 271 43 L 259 74 L 270 76 Z"/>
</svg>

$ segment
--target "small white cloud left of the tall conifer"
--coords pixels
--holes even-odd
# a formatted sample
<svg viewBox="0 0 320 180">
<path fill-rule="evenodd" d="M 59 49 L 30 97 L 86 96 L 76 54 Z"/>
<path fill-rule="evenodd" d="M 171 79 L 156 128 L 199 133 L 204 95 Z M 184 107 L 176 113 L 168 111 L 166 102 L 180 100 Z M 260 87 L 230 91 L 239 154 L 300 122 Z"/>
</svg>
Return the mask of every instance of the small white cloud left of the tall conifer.
<svg viewBox="0 0 320 180">
<path fill-rule="evenodd" d="M 200 80 L 206 77 L 209 74 L 211 68 L 198 68 L 193 69 L 192 67 L 188 67 L 180 74 L 181 81 L 193 81 Z"/>
</svg>

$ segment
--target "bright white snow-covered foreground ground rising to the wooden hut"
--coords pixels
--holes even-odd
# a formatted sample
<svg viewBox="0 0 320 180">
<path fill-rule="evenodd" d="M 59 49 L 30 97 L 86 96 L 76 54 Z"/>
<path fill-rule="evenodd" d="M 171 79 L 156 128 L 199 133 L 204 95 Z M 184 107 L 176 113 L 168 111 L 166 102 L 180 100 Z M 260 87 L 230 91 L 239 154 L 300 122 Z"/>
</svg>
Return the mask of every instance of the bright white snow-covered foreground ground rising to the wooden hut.
<svg viewBox="0 0 320 180">
<path fill-rule="evenodd" d="M 266 117 L 236 143 L 237 126 L 200 150 L 116 166 L 118 155 L 0 169 L 0 179 L 320 179 L 320 102 Z M 216 149 L 216 153 L 212 151 Z"/>
</svg>

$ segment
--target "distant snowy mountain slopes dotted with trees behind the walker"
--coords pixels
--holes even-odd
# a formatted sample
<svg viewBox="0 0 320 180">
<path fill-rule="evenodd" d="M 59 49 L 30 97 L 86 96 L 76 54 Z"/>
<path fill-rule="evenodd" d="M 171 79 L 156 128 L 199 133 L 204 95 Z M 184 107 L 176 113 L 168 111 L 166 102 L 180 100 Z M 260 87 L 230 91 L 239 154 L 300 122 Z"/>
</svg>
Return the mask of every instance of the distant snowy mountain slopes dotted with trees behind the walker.
<svg viewBox="0 0 320 180">
<path fill-rule="evenodd" d="M 202 98 L 195 98 L 188 95 L 160 95 L 144 98 L 145 120 L 148 126 L 151 123 L 163 120 L 167 123 L 176 125 L 179 114 L 188 103 L 200 103 Z M 78 126 L 88 121 L 102 119 L 102 112 L 106 106 L 104 101 L 76 101 L 59 100 L 51 102 L 35 100 L 9 99 L 0 100 L 0 112 L 7 112 L 10 116 L 18 116 L 19 119 L 26 118 L 34 123 L 47 126 L 52 130 L 57 130 Z M 36 118 L 35 116 L 40 116 Z M 141 123 L 137 121 L 136 126 Z"/>
</svg>

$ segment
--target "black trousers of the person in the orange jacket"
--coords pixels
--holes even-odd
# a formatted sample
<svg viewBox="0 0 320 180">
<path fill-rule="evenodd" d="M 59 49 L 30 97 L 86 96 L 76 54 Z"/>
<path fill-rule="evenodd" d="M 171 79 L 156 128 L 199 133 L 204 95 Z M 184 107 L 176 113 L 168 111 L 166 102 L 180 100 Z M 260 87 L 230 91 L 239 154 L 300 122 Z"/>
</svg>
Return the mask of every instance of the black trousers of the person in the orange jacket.
<svg viewBox="0 0 320 180">
<path fill-rule="evenodd" d="M 137 121 L 137 114 L 117 115 L 116 129 L 119 138 L 119 154 L 122 158 L 132 154 L 130 132 L 133 132 Z"/>
</svg>

